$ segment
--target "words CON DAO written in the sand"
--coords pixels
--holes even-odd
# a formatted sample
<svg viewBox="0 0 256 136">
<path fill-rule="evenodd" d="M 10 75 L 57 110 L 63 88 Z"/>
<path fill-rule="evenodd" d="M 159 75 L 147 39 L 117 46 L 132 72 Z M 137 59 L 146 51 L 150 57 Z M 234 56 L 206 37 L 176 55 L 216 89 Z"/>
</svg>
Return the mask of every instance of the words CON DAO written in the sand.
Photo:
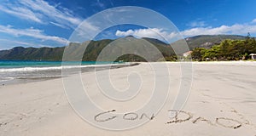
<svg viewBox="0 0 256 136">
<path fill-rule="evenodd" d="M 154 119 L 154 114 L 137 114 L 135 112 L 127 112 L 121 116 L 114 115 L 115 110 L 112 111 L 104 111 L 102 113 L 97 114 L 94 116 L 94 120 L 96 122 L 111 122 L 117 118 L 125 120 L 127 122 L 136 122 L 142 119 L 148 119 L 148 121 Z M 177 124 L 182 122 L 191 122 L 193 124 L 196 123 L 206 123 L 207 125 L 211 126 L 220 126 L 220 127 L 227 127 L 227 128 L 239 128 L 242 126 L 242 122 L 237 121 L 236 119 L 228 118 L 228 117 L 216 117 L 214 121 L 211 121 L 203 116 L 195 116 L 194 114 L 187 112 L 187 111 L 173 111 L 169 110 L 168 112 L 174 112 L 175 116 L 170 118 L 169 121 L 164 122 L 165 124 Z"/>
</svg>

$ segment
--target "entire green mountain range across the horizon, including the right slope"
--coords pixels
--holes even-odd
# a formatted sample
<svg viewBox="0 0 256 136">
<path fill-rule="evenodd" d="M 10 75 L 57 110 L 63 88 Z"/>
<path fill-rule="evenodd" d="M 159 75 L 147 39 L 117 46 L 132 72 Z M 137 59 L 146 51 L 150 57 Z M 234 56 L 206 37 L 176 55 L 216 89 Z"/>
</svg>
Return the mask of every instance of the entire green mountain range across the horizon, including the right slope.
<svg viewBox="0 0 256 136">
<path fill-rule="evenodd" d="M 201 48 L 211 48 L 214 44 L 218 44 L 219 42 L 224 41 L 225 39 L 231 39 L 231 40 L 243 40 L 246 37 L 242 36 L 236 36 L 236 35 L 201 35 L 201 36 L 195 36 L 195 37 L 187 37 L 185 38 L 186 42 L 189 45 L 189 49 L 192 50 L 193 48 L 201 47 Z M 130 44 L 137 45 L 137 46 L 131 46 L 132 48 L 126 48 L 126 50 L 139 50 L 143 47 L 145 44 L 151 43 L 154 45 L 155 48 L 160 50 L 160 53 L 169 60 L 176 59 L 176 55 L 174 54 L 173 49 L 169 44 L 166 42 L 162 42 L 158 39 L 154 38 L 135 38 L 132 36 L 128 37 L 122 37 L 115 40 L 111 39 L 103 39 L 99 41 L 87 41 L 83 43 L 77 43 L 77 42 L 71 42 L 67 48 L 72 48 L 72 52 L 70 53 L 70 56 L 73 56 L 74 58 L 79 55 L 79 51 L 85 43 L 90 42 L 86 50 L 84 51 L 83 60 L 84 61 L 95 61 L 98 57 L 98 55 L 102 52 L 103 48 L 106 48 L 106 46 L 111 43 L 115 44 L 116 46 L 123 46 L 123 47 L 129 47 Z M 183 44 L 183 41 L 179 40 L 177 42 L 171 43 L 172 47 L 176 46 L 177 53 L 183 54 L 183 52 L 178 52 L 178 50 L 183 50 L 182 48 L 179 48 L 180 44 Z M 82 45 L 82 46 L 81 46 Z M 2 50 L 0 51 L 0 60 L 61 60 L 62 55 L 64 52 L 65 47 L 61 48 L 23 48 L 23 47 L 16 47 L 9 50 Z M 156 57 L 154 52 L 152 52 L 152 48 L 144 48 L 148 54 L 150 54 L 153 57 Z M 143 51 L 143 50 L 142 50 Z M 109 55 L 113 54 L 113 51 L 108 51 Z M 149 55 L 149 56 L 150 56 Z M 109 57 L 109 56 L 108 56 Z M 108 58 L 107 57 L 107 58 Z M 159 57 L 159 56 L 158 56 Z M 155 59 L 155 58 L 154 58 Z M 158 58 L 161 59 L 161 58 Z M 125 54 L 120 56 L 116 60 L 124 60 L 124 61 L 145 61 L 142 57 L 139 57 L 135 54 Z"/>
</svg>

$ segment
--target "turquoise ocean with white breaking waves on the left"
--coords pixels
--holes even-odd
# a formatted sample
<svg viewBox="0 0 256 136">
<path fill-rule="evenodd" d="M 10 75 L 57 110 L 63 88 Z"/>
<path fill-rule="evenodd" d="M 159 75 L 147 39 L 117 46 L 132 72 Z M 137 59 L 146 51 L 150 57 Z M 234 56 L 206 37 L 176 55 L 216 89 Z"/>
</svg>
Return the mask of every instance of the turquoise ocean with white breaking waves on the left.
<svg viewBox="0 0 256 136">
<path fill-rule="evenodd" d="M 32 82 L 61 77 L 61 61 L 15 61 L 0 60 L 1 85 L 20 82 Z M 72 64 L 72 62 L 70 62 Z M 77 64 L 77 63 L 76 63 Z M 102 69 L 109 65 L 124 65 L 119 62 L 82 61 L 82 72 L 95 71 L 96 67 Z M 72 68 L 72 67 L 71 67 Z"/>
</svg>

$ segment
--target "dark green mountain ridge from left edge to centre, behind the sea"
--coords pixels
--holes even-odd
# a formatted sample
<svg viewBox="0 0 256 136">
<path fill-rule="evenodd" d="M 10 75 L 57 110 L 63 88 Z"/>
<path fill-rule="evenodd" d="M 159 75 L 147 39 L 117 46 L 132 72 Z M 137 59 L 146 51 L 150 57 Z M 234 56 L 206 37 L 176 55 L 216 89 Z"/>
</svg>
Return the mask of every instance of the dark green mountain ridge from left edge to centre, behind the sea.
<svg viewBox="0 0 256 136">
<path fill-rule="evenodd" d="M 160 40 L 153 39 L 153 38 L 137 39 L 131 36 L 119 38 L 116 40 L 103 39 L 99 41 L 87 41 L 83 43 L 71 42 L 68 45 L 68 48 L 72 48 L 71 49 L 72 52 L 70 53 L 70 56 L 77 56 L 81 47 L 83 47 L 85 43 L 90 42 L 90 44 L 84 51 L 83 60 L 95 61 L 97 59 L 97 56 L 102 52 L 102 49 L 105 48 L 109 43 L 114 42 L 117 45 L 121 45 L 121 44 L 124 44 L 125 42 L 125 44 L 128 45 L 129 42 L 127 41 L 131 42 L 134 45 L 143 45 L 143 44 L 147 44 L 145 42 L 150 42 L 152 45 L 154 45 L 154 47 L 158 48 L 164 56 L 174 55 L 172 48 L 170 46 L 167 46 L 165 42 L 161 42 Z M 62 60 L 64 49 L 65 47 L 59 47 L 59 48 L 15 47 L 9 50 L 0 51 L 0 60 Z M 131 61 L 131 60 L 143 61 L 144 60 L 143 58 L 134 54 L 125 54 L 123 56 L 120 56 L 119 59 L 122 59 L 125 61 Z"/>
</svg>

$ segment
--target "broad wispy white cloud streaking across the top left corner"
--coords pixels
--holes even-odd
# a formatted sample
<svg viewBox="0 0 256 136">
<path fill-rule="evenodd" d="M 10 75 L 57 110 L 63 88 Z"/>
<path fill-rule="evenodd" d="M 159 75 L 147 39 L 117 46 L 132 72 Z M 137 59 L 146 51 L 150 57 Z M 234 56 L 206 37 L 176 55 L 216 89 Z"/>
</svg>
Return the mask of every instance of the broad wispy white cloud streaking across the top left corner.
<svg viewBox="0 0 256 136">
<path fill-rule="evenodd" d="M 82 19 L 76 17 L 71 10 L 59 5 L 50 5 L 44 0 L 20 0 L 12 3 L 8 1 L 0 6 L 0 10 L 20 19 L 42 24 L 51 22 L 51 24 L 61 27 L 75 28 L 82 22 Z"/>
</svg>

